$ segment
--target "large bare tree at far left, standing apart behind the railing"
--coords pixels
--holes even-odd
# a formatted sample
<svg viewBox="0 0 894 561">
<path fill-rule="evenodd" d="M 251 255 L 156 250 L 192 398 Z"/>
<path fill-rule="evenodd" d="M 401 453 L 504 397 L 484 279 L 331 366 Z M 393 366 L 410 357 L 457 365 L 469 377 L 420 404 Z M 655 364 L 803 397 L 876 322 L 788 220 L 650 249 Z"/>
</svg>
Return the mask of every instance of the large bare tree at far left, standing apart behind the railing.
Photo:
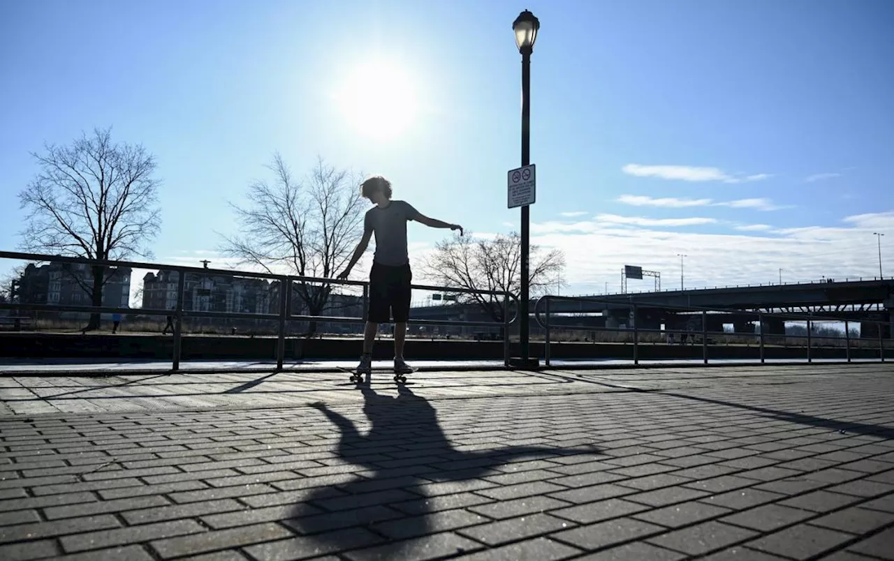
<svg viewBox="0 0 894 561">
<path fill-rule="evenodd" d="M 111 128 L 32 155 L 40 172 L 19 194 L 28 211 L 22 248 L 98 260 L 151 256 L 144 244 L 161 227 L 155 156 L 141 145 L 115 144 Z M 103 285 L 115 272 L 106 275 L 101 266 L 91 272 L 90 281 L 72 278 L 93 306 L 102 306 Z M 99 314 L 91 314 L 86 329 L 98 327 Z"/>
</svg>

